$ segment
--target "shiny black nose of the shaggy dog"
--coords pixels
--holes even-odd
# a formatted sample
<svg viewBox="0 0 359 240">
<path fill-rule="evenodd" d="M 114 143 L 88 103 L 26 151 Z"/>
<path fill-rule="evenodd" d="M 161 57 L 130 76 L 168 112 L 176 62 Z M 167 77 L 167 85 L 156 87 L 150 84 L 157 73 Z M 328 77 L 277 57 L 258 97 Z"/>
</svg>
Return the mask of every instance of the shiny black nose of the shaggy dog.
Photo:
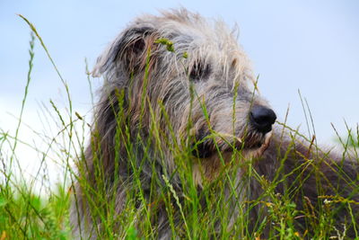
<svg viewBox="0 0 359 240">
<path fill-rule="evenodd" d="M 250 123 L 259 132 L 267 133 L 272 130 L 272 125 L 276 121 L 276 113 L 263 106 L 253 106 L 250 111 Z"/>
</svg>

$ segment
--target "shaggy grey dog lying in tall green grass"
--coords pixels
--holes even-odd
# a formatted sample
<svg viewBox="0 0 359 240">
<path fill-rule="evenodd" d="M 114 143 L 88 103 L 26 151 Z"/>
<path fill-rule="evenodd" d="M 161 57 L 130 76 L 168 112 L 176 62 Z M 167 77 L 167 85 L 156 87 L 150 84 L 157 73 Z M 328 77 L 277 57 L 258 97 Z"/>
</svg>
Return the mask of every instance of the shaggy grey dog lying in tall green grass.
<svg viewBox="0 0 359 240">
<path fill-rule="evenodd" d="M 256 93 L 256 78 L 236 31 L 223 22 L 185 9 L 142 15 L 98 58 L 93 75 L 103 76 L 105 83 L 74 182 L 75 237 L 109 236 L 109 226 L 115 233 L 124 231 L 128 202 L 144 208 L 144 202 L 161 199 L 163 189 L 174 197 L 149 213 L 153 236 L 182 237 L 180 230 L 172 231 L 170 218 L 180 229 L 180 212 L 188 214 L 179 207 L 186 201 L 181 170 L 187 166 L 198 194 L 208 184 L 216 189 L 223 172 L 228 176 L 226 171 L 235 169 L 233 181 L 217 192 L 231 209 L 228 232 L 246 213 L 250 226 L 244 235 L 251 236 L 261 223 L 260 234 L 268 237 L 276 222 L 266 218 L 273 199 L 266 194 L 274 186 L 277 196 L 289 196 L 296 209 L 312 212 L 296 219 L 301 234 L 311 231 L 308 218 L 315 218 L 315 209 L 332 202 L 337 230 L 355 236 L 358 165 L 322 152 L 314 138 L 274 125 L 276 114 Z M 251 200 L 257 204 L 244 204 Z M 199 201 L 206 211 L 208 202 Z M 141 222 L 141 217 L 132 219 L 134 226 Z M 223 224 L 214 228 L 221 231 Z"/>
</svg>

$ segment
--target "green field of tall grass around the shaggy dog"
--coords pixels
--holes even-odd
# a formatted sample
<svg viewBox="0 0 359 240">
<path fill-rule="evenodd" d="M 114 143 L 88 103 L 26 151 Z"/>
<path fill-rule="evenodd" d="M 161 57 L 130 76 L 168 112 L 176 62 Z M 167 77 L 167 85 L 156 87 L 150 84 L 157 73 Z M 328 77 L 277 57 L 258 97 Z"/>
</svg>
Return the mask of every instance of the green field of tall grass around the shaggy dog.
<svg viewBox="0 0 359 240">
<path fill-rule="evenodd" d="M 26 19 L 24 19 L 28 22 Z M 346 239 L 346 227 L 344 230 L 337 229 L 335 211 L 336 206 L 333 202 L 348 204 L 359 204 L 358 202 L 351 202 L 340 198 L 340 196 L 331 196 L 332 198 L 326 201 L 320 211 L 314 211 L 309 205 L 308 209 L 298 210 L 293 203 L 291 194 L 287 192 L 284 195 L 276 193 L 276 185 L 285 182 L 285 177 L 280 175 L 275 181 L 269 182 L 261 175 L 258 175 L 253 168 L 250 167 L 250 161 L 241 164 L 232 164 L 230 169 L 223 168 L 223 173 L 220 173 L 218 178 L 213 182 L 202 182 L 201 191 L 197 188 L 196 179 L 194 179 L 193 172 L 193 148 L 188 146 L 188 142 L 173 142 L 167 139 L 168 142 L 156 142 L 160 146 L 155 154 L 162 156 L 161 147 L 166 146 L 171 149 L 171 154 L 175 156 L 176 176 L 179 177 L 180 186 L 173 185 L 171 182 L 172 175 L 162 173 L 155 174 L 156 165 L 153 166 L 153 177 L 151 182 L 142 181 L 142 164 L 149 157 L 153 155 L 150 151 L 144 153 L 142 162 L 136 162 L 138 157 L 133 156 L 129 158 L 132 173 L 132 188 L 126 192 L 127 201 L 124 202 L 124 210 L 117 214 L 114 210 L 117 204 L 116 187 L 121 181 L 118 176 L 113 176 L 111 179 L 114 183 L 109 190 L 106 182 L 109 176 L 106 175 L 106 170 L 101 168 L 101 159 L 94 159 L 94 168 L 96 168 L 94 175 L 94 182 L 96 188 L 92 188 L 92 184 L 88 183 L 88 179 L 83 178 L 74 169 L 75 165 L 79 168 L 79 172 L 85 171 L 88 167 L 86 163 L 81 162 L 84 155 L 85 143 L 83 132 L 90 129 L 88 123 L 83 117 L 73 110 L 71 96 L 69 94 L 66 81 L 57 70 L 56 64 L 50 57 L 45 43 L 41 40 L 39 33 L 31 26 L 31 41 L 30 41 L 30 60 L 29 60 L 29 75 L 27 85 L 22 101 L 22 110 L 26 106 L 27 89 L 31 83 L 31 70 L 34 58 L 33 46 L 35 42 L 40 44 L 48 54 L 49 61 L 53 64 L 59 79 L 64 84 L 67 93 L 67 111 L 59 111 L 56 102 L 50 102 L 51 112 L 56 116 L 57 126 L 59 126 L 58 134 L 56 136 L 46 136 L 47 147 L 39 149 L 31 142 L 26 142 L 18 138 L 18 131 L 22 126 L 22 113 L 19 116 L 19 125 L 15 129 L 13 135 L 9 134 L 7 130 L 0 130 L 0 240 L 4 239 L 71 239 L 71 227 L 69 224 L 69 207 L 71 198 L 76 195 L 76 191 L 72 182 L 80 182 L 84 191 L 83 195 L 89 201 L 90 213 L 92 219 L 101 219 L 102 228 L 92 229 L 94 233 L 99 236 L 99 239 L 156 239 L 156 226 L 153 222 L 156 221 L 156 212 L 161 206 L 165 206 L 167 214 L 169 215 L 170 227 L 175 236 L 188 239 L 210 239 L 216 236 L 220 239 L 238 239 L 245 237 L 247 239 L 261 239 L 264 226 L 269 221 L 272 225 L 270 228 L 273 239 Z M 35 66 L 36 67 L 36 66 Z M 91 83 L 91 81 L 89 81 Z M 118 101 L 122 99 L 121 93 L 118 93 Z M 144 105 L 144 103 L 143 103 Z M 118 146 L 125 146 L 127 154 L 130 156 L 132 149 L 138 147 L 132 141 L 127 141 L 129 138 L 129 131 L 131 126 L 127 126 L 126 119 L 121 111 L 118 111 L 117 121 L 118 126 L 125 124 L 126 131 L 118 132 Z M 206 108 L 204 108 L 206 114 Z M 155 118 L 153 117 L 153 120 Z M 80 130 L 79 130 L 80 129 Z M 128 131 L 127 131 L 128 130 Z M 346 138 L 338 138 L 338 145 L 341 145 L 344 153 L 350 152 L 358 163 L 357 156 L 358 136 L 356 132 L 348 130 Z M 295 134 L 295 131 L 293 131 Z M 155 122 L 152 126 L 151 134 L 154 139 L 162 141 L 162 132 L 158 129 Z M 158 135 L 158 137 L 157 137 Z M 144 147 L 152 145 L 153 143 L 146 142 L 146 138 L 138 135 L 137 143 Z M 59 141 L 58 139 L 66 139 Z M 308 140 L 311 144 L 311 139 Z M 92 143 L 96 149 L 96 141 Z M 40 167 L 38 172 L 33 175 L 33 180 L 29 181 L 22 177 L 22 165 L 17 156 L 17 149 L 19 145 L 27 145 L 33 147 L 39 152 Z M 184 150 L 185 149 L 185 150 Z M 101 151 L 101 149 L 99 150 Z M 54 160 L 53 156 L 58 159 Z M 50 155 L 50 153 L 52 153 Z M 233 159 L 235 156 L 241 154 L 241 150 L 233 149 Z M 96 158 L 96 157 L 95 157 Z M 80 163 L 77 161 L 80 160 Z M 41 182 L 46 182 L 47 163 L 48 161 L 56 161 L 63 169 L 63 182 L 52 184 L 47 191 L 39 191 Z M 43 164 L 42 164 L 43 163 Z M 257 178 L 261 187 L 266 189 L 266 196 L 263 199 L 257 199 L 250 202 L 228 202 L 224 199 L 224 191 L 228 189 L 225 186 L 232 186 L 232 194 L 236 194 L 238 190 L 235 184 L 235 173 L 241 167 L 248 167 L 248 172 L 243 174 L 241 186 L 245 186 L 250 178 Z M 117 169 L 118 163 L 113 164 Z M 116 172 L 116 171 L 115 171 Z M 340 173 L 339 173 L 340 174 Z M 146 187 L 144 188 L 144 183 Z M 349 182 L 350 183 L 350 182 Z M 43 186 L 45 188 L 45 185 Z M 178 188 L 181 188 L 181 196 L 178 195 Z M 145 198 L 144 189 L 150 189 L 150 198 Z M 359 186 L 356 186 L 354 192 L 359 191 Z M 42 192 L 42 193 L 39 193 Z M 46 192 L 46 193 L 43 193 Z M 111 194 L 109 194 L 111 193 Z M 356 193 L 357 194 L 357 193 Z M 206 203 L 206 204 L 204 204 Z M 250 217 L 248 209 L 258 205 L 258 203 L 267 206 L 267 218 L 258 221 L 256 233 L 251 233 L 248 229 Z M 231 231 L 227 231 L 229 219 L 232 212 L 229 205 L 234 204 L 239 209 L 238 214 L 241 218 L 236 218 L 234 227 Z M 332 205 L 333 204 L 333 205 Z M 206 205 L 206 208 L 203 206 Z M 354 215 L 356 213 L 353 213 Z M 307 225 L 311 227 L 311 232 L 302 232 L 295 225 L 297 218 L 306 216 L 309 220 Z M 356 215 L 357 216 L 357 215 Z M 355 218 L 355 217 L 354 217 Z M 357 217 L 356 217 L 357 218 Z M 180 221 L 182 224 L 176 225 Z M 356 222 L 354 228 L 355 233 L 359 231 Z M 220 226 L 220 229 L 217 228 Z M 313 230 L 314 229 L 314 230 Z M 359 235 L 356 234 L 356 239 Z"/>
</svg>

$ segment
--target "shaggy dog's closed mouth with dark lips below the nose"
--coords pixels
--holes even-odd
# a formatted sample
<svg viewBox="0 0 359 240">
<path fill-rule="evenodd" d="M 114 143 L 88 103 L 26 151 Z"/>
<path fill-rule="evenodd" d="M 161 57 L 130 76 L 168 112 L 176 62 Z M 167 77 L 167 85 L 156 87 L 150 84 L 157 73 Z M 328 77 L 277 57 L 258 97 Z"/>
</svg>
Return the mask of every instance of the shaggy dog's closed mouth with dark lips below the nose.
<svg viewBox="0 0 359 240">
<path fill-rule="evenodd" d="M 199 141 L 192 150 L 198 158 L 207 158 L 218 152 L 241 152 L 242 156 L 262 156 L 269 146 L 272 131 L 267 134 L 253 133 L 244 138 L 219 134 L 216 138 L 206 138 Z"/>
</svg>

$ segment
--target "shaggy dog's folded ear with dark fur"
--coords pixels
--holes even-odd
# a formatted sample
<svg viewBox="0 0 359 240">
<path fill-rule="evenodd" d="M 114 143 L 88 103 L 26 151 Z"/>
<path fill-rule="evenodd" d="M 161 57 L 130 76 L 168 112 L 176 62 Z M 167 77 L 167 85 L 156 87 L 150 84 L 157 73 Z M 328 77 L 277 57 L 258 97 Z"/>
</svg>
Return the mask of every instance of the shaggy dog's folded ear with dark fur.
<svg viewBox="0 0 359 240">
<path fill-rule="evenodd" d="M 154 51 L 154 41 L 158 39 L 152 27 L 135 26 L 119 34 L 106 49 L 92 71 L 92 76 L 123 80 L 142 70 Z"/>
</svg>

